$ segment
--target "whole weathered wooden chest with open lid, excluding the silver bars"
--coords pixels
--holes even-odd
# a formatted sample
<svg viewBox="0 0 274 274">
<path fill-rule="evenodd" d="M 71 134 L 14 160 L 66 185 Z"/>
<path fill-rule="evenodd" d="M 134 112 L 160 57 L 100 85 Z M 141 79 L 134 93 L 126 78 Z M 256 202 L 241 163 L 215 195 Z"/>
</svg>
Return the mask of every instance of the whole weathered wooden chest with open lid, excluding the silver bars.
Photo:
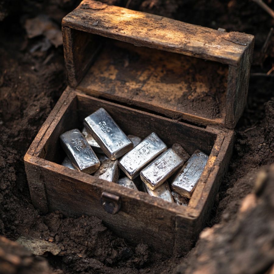
<svg viewBox="0 0 274 274">
<path fill-rule="evenodd" d="M 86 0 L 62 21 L 68 87 L 24 161 L 42 213 L 95 215 L 121 237 L 180 255 L 213 206 L 246 102 L 254 37 Z M 187 207 L 61 165 L 59 135 L 104 107 L 126 134 L 151 132 L 209 160 Z M 117 214 L 101 204 L 121 206 Z M 87 235 L 88 237 L 88 235 Z"/>
</svg>

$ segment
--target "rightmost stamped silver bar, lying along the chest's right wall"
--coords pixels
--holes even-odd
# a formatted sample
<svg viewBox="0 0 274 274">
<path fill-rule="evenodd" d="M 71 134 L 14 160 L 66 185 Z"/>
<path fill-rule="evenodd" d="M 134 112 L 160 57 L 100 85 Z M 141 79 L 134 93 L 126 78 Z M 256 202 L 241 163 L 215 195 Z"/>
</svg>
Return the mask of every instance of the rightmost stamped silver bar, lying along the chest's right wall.
<svg viewBox="0 0 274 274">
<path fill-rule="evenodd" d="M 190 198 L 206 166 L 208 156 L 196 150 L 171 184 L 172 190 Z"/>
</svg>

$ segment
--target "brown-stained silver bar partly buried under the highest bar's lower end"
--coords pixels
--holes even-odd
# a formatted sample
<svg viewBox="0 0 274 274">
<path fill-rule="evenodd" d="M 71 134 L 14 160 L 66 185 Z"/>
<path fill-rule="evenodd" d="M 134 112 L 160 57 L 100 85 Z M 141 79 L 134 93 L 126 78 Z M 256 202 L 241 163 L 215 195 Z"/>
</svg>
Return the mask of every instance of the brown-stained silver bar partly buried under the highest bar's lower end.
<svg viewBox="0 0 274 274">
<path fill-rule="evenodd" d="M 101 162 L 100 167 L 94 173 L 95 177 L 116 183 L 119 178 L 118 160 L 110 159 Z"/>
</svg>

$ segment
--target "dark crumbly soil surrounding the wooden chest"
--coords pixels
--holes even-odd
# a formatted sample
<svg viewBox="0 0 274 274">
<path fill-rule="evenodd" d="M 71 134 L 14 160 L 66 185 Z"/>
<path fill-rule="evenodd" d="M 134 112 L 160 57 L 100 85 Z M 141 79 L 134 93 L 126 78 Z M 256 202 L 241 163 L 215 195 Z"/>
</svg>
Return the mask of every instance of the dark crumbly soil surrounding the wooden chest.
<svg viewBox="0 0 274 274">
<path fill-rule="evenodd" d="M 235 129 L 236 143 L 229 171 L 222 181 L 208 227 L 188 255 L 168 258 L 151 252 L 145 243 L 132 246 L 115 236 L 96 217 L 64 218 L 58 212 L 42 216 L 33 208 L 23 156 L 66 83 L 62 47 L 48 47 L 43 35 L 28 38 L 23 26 L 26 19 L 45 14 L 60 27 L 61 18 L 76 2 L 0 1 L 0 234 L 11 240 L 23 235 L 62 244 L 61 256 L 47 257 L 50 268 L 45 265 L 43 268 L 48 272 L 270 271 L 274 263 L 274 178 L 271 175 L 274 170 L 269 167 L 274 161 L 274 77 L 273 73 L 266 76 L 266 72 L 274 63 L 274 37 L 266 56 L 262 56 L 261 49 L 274 20 L 252 1 L 104 1 L 123 6 L 129 3 L 131 9 L 256 37 L 248 104 Z M 265 2 L 273 8 L 271 0 Z M 261 169 L 265 171 L 256 179 Z M 4 247 L 0 245 L 0 251 L 7 246 L 8 242 Z M 20 265 L 30 255 L 18 256 Z M 37 262 L 40 263 L 33 260 Z"/>
</svg>

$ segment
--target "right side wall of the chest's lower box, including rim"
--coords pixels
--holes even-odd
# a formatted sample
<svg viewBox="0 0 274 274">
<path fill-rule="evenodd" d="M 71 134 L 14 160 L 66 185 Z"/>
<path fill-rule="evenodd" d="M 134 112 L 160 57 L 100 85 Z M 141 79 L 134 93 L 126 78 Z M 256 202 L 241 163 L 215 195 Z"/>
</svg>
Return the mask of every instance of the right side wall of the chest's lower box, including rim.
<svg viewBox="0 0 274 274">
<path fill-rule="evenodd" d="M 174 254 L 177 256 L 182 256 L 187 250 L 186 247 L 188 249 L 193 247 L 214 205 L 221 179 L 228 168 L 233 152 L 234 132 L 228 130 L 223 135 L 219 135 L 218 139 L 210 155 L 212 158 L 215 157 L 212 169 L 210 173 L 207 170 L 203 172 L 188 204 L 189 218 L 185 218 L 180 214 L 176 216 Z M 192 230 L 192 234 L 186 233 L 184 230 Z"/>
</svg>

